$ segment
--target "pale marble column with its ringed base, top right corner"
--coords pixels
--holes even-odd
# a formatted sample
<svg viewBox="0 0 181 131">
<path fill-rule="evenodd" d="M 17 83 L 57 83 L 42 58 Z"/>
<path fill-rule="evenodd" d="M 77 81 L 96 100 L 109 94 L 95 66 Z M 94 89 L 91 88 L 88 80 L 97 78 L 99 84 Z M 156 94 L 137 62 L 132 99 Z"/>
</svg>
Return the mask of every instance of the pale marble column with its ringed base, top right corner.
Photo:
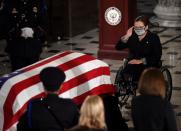
<svg viewBox="0 0 181 131">
<path fill-rule="evenodd" d="M 151 23 L 163 27 L 181 27 L 181 0 L 158 0 Z"/>
</svg>

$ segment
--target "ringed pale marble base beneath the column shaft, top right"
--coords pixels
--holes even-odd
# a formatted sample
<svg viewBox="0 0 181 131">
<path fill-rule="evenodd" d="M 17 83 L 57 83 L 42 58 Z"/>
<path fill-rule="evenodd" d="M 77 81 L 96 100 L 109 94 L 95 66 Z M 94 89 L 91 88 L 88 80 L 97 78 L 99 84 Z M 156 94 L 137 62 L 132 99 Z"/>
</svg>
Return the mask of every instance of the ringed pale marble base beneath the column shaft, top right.
<svg viewBox="0 0 181 131">
<path fill-rule="evenodd" d="M 181 27 L 181 7 L 157 5 L 153 12 L 156 16 L 150 19 L 151 23 L 163 27 Z"/>
</svg>

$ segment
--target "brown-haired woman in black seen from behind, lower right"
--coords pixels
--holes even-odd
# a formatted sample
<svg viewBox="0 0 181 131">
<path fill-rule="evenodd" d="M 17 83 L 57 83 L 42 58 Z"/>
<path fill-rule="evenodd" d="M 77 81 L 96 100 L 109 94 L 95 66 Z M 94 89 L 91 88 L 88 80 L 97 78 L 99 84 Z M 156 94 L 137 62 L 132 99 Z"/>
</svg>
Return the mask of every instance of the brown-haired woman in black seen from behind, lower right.
<svg viewBox="0 0 181 131">
<path fill-rule="evenodd" d="M 132 118 L 136 131 L 177 131 L 175 113 L 165 100 L 165 80 L 157 68 L 143 71 L 138 92 L 132 100 Z"/>
</svg>

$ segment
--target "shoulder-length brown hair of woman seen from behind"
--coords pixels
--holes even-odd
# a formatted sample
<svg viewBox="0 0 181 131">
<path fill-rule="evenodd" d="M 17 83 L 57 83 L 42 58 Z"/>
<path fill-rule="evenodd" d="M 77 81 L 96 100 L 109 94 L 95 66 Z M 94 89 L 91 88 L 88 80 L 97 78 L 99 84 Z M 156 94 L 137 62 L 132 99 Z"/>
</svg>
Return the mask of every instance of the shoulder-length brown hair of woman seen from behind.
<svg viewBox="0 0 181 131">
<path fill-rule="evenodd" d="M 142 95 L 165 97 L 165 80 L 163 73 L 157 68 L 148 68 L 141 74 L 138 91 Z"/>
</svg>

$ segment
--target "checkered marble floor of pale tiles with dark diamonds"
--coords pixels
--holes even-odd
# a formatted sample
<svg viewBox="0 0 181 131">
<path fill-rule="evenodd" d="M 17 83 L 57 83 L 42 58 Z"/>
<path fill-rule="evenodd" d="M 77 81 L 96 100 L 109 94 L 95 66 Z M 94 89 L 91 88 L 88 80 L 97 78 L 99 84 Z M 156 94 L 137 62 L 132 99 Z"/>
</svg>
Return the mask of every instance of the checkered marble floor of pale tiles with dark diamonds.
<svg viewBox="0 0 181 131">
<path fill-rule="evenodd" d="M 155 3 L 152 0 L 141 2 L 138 0 L 138 11 L 140 13 L 152 14 Z M 146 8 L 145 8 L 146 7 Z M 173 94 L 171 103 L 173 105 L 178 131 L 181 131 L 181 29 L 150 26 L 150 30 L 157 33 L 160 37 L 163 49 L 163 64 L 168 67 L 173 80 Z M 43 48 L 41 59 L 52 56 L 58 52 L 72 50 L 82 52 L 97 57 L 99 46 L 99 29 L 92 29 L 84 34 L 72 37 L 70 39 L 60 39 L 53 43 L 47 43 Z M 0 75 L 10 72 L 9 58 L 4 52 L 6 43 L 0 40 Z M 118 68 L 122 65 L 120 60 L 103 59 L 109 64 L 111 70 L 111 80 L 114 83 Z M 125 112 L 123 112 L 124 115 Z M 131 120 L 128 121 L 129 127 L 132 127 Z"/>
</svg>

